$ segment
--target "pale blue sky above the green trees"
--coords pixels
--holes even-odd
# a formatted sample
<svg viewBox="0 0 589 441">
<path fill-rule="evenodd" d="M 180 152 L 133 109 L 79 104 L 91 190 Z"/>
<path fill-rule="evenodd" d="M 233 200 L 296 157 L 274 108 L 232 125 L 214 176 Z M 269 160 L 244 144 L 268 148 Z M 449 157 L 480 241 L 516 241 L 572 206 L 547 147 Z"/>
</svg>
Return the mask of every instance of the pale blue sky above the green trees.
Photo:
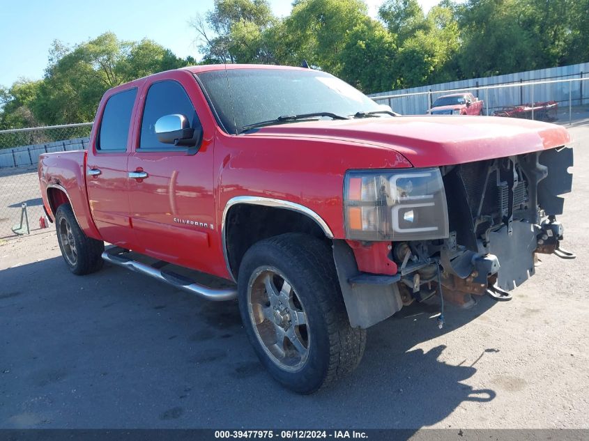
<svg viewBox="0 0 589 441">
<path fill-rule="evenodd" d="M 290 0 L 269 0 L 279 17 Z M 384 0 L 365 0 L 376 17 Z M 439 0 L 419 0 L 427 12 Z M 213 0 L 168 3 L 149 0 L 0 0 L 0 86 L 20 77 L 41 79 L 53 40 L 75 45 L 112 31 L 121 40 L 149 38 L 176 56 L 199 59 L 196 33 L 188 22 L 213 8 Z"/>
</svg>

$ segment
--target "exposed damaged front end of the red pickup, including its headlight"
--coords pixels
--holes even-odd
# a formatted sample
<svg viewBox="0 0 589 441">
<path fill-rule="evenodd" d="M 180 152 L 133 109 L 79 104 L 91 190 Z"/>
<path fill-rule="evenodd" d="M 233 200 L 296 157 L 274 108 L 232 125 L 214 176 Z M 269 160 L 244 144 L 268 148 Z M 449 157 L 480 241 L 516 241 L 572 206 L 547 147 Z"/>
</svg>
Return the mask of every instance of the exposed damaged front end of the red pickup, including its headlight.
<svg viewBox="0 0 589 441">
<path fill-rule="evenodd" d="M 334 256 L 351 324 L 368 327 L 432 295 L 463 307 L 509 300 L 560 247 L 572 148 L 346 176 L 346 241 Z M 428 176 L 429 175 L 431 176 Z M 443 321 L 443 315 L 441 317 Z"/>
</svg>

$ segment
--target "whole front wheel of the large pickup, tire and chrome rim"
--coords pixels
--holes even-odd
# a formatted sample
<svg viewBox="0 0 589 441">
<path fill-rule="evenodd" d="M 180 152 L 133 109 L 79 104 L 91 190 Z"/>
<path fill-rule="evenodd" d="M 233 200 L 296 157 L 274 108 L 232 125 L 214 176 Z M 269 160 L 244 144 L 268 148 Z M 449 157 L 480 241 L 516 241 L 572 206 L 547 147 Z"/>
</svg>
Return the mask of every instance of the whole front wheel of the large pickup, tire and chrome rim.
<svg viewBox="0 0 589 441">
<path fill-rule="evenodd" d="M 261 363 L 302 394 L 358 366 L 366 331 L 349 324 L 330 248 L 287 233 L 250 248 L 239 268 L 239 308 Z"/>
</svg>

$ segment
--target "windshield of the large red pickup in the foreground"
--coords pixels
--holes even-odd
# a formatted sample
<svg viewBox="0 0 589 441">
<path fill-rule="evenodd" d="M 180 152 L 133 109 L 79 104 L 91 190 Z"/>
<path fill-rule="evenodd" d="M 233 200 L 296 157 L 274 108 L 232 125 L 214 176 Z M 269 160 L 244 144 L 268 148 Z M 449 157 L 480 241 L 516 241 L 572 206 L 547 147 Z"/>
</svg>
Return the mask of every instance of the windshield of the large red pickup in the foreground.
<svg viewBox="0 0 589 441">
<path fill-rule="evenodd" d="M 318 70 L 227 69 L 197 77 L 229 133 L 279 116 L 317 112 L 350 116 L 382 110 L 349 84 Z"/>
</svg>

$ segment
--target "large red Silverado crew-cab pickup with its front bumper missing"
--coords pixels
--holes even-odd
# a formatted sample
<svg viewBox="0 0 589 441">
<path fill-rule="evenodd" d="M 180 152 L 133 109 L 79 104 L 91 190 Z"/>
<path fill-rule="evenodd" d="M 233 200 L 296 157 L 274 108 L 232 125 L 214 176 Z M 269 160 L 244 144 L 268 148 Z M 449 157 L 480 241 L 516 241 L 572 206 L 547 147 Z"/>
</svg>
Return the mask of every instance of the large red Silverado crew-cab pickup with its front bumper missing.
<svg viewBox="0 0 589 441">
<path fill-rule="evenodd" d="M 74 274 L 109 261 L 237 298 L 261 363 L 310 393 L 404 305 L 439 296 L 442 326 L 443 300 L 507 300 L 536 253 L 571 257 L 570 141 L 537 121 L 397 116 L 312 69 L 206 65 L 107 91 L 88 150 L 42 155 L 39 178 Z"/>
</svg>

